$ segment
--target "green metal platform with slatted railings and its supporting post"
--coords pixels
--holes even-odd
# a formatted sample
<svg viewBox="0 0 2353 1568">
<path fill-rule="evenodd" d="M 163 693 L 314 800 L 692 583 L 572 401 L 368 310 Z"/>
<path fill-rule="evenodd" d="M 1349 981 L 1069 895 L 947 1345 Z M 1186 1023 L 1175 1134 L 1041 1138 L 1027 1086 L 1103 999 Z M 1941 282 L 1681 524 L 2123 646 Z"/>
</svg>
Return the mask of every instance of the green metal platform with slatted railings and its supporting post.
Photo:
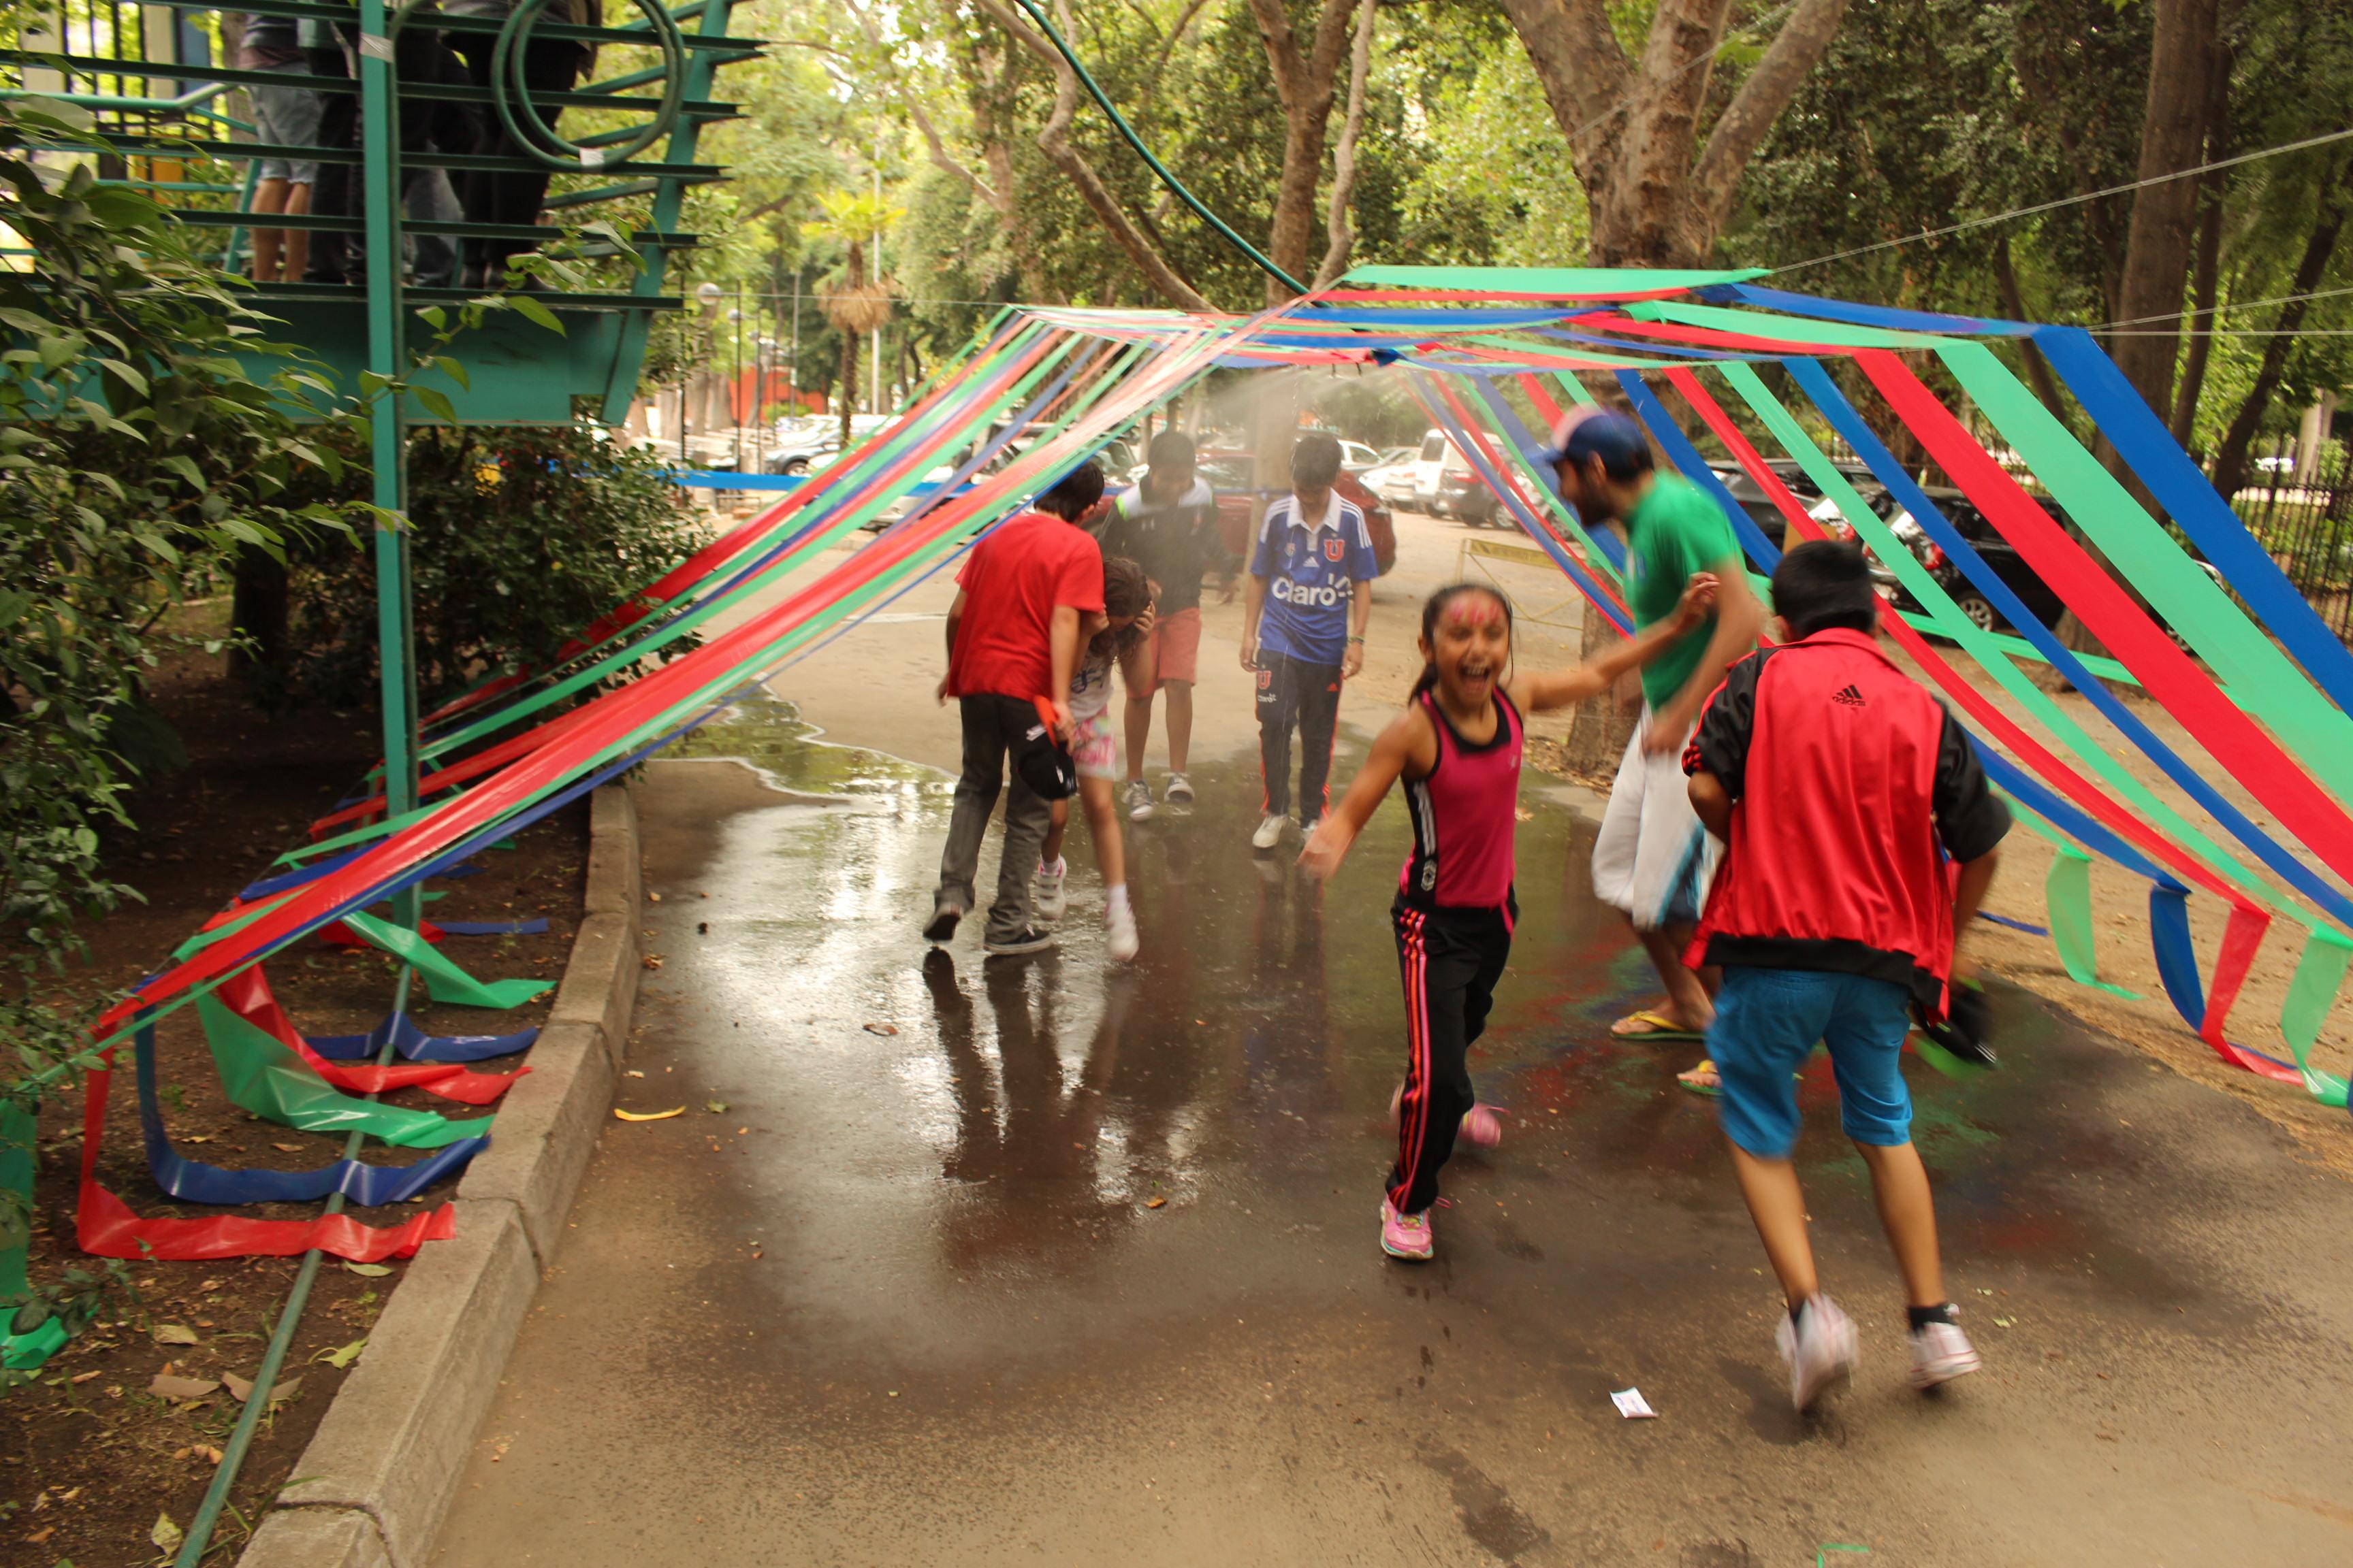
<svg viewBox="0 0 2353 1568">
<path fill-rule="evenodd" d="M 619 421 L 638 386 L 647 334 L 656 310 L 682 301 L 664 292 L 668 256 L 694 244 L 678 230 L 687 186 L 720 179 L 720 169 L 696 162 L 701 129 L 736 113 L 732 103 L 711 99 L 715 73 L 729 61 L 751 59 L 755 40 L 729 38 L 727 21 L 734 0 L 692 0 L 666 7 L 664 0 L 626 0 L 638 19 L 626 26 L 574 26 L 548 19 L 548 0 L 513 0 L 504 16 L 454 16 L 433 9 L 431 0 L 242 0 L 235 14 L 282 16 L 318 24 L 322 38 L 341 38 L 351 59 L 348 78 L 289 71 L 247 71 L 212 59 L 235 49 L 226 28 L 207 26 L 207 16 L 231 14 L 228 7 L 195 0 L 122 5 L 118 0 L 54 0 L 42 21 L 26 24 L 16 47 L 0 49 L 14 82 L 0 87 L 9 96 L 45 96 L 78 103 L 94 113 L 96 134 L 111 148 L 101 172 L 127 186 L 153 193 L 186 223 L 224 230 L 224 266 L 238 266 L 240 244 L 252 228 L 336 233 L 358 240 L 365 282 L 266 282 L 252 289 L 259 308 L 285 320 L 285 339 L 304 343 L 346 393 L 360 395 L 367 383 L 381 386 L 409 371 L 409 331 L 414 313 L 428 306 L 459 306 L 480 289 L 409 287 L 405 240 L 435 235 L 452 242 L 541 242 L 558 230 L 541 226 L 499 226 L 475 221 L 419 221 L 402 216 L 402 190 L 412 169 L 449 174 L 565 172 L 586 176 L 574 190 L 555 190 L 546 207 L 567 223 L 586 226 L 600 209 L 642 200 L 647 221 L 621 235 L 619 244 L 635 252 L 635 277 L 614 292 L 532 292 L 525 313 L 492 313 L 482 327 L 452 346 L 466 369 L 464 383 L 426 371 L 416 388 L 440 393 L 461 423 L 567 423 L 584 407 L 595 407 L 607 423 Z M 325 33 L 332 28 L 332 33 Z M 447 35 L 492 35 L 492 85 L 402 82 L 395 68 L 395 45 L 405 28 L 435 28 Z M 649 47 L 659 63 L 626 71 L 609 80 L 586 82 L 569 92 L 532 92 L 522 85 L 522 59 L 532 40 L 572 40 L 591 47 Z M 252 139 L 254 127 L 226 113 L 235 89 L 301 87 L 320 94 L 360 96 L 355 146 L 280 146 Z M 656 96 L 631 89 L 656 89 Z M 475 113 L 494 113 L 525 155 L 482 155 L 473 150 L 400 146 L 402 103 L 461 103 Z M 631 122 L 567 141 L 558 115 L 624 113 Z M 87 148 L 49 148 L 87 155 Z M 252 212 L 259 160 L 355 167 L 360 214 L 268 214 Z M 195 169 L 235 169 L 242 179 L 191 179 Z M 616 254 L 614 237 L 591 240 L 576 252 L 586 259 Z M 38 266 L 38 259 L 35 259 Z M 551 331 L 544 317 L 560 327 Z M 266 374 L 275 367 L 254 364 Z M 362 371 L 369 381 L 362 381 Z M 369 402 L 374 503 L 400 517 L 407 505 L 405 430 L 431 418 L 414 395 L 379 395 Z M 384 762 L 393 813 L 416 804 L 416 691 L 409 661 L 412 607 L 407 531 L 384 527 L 374 541 L 379 588 L 379 637 L 384 649 Z"/>
</svg>

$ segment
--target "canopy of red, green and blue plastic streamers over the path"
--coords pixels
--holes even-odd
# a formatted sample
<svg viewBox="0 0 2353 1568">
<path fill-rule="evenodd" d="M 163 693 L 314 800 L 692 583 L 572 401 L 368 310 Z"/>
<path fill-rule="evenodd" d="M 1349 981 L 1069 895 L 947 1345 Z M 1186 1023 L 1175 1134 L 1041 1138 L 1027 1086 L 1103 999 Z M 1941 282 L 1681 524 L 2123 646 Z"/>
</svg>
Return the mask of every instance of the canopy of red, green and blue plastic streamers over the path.
<svg viewBox="0 0 2353 1568">
<path fill-rule="evenodd" d="M 821 473 L 746 524 L 727 529 L 680 567 L 631 595 L 569 642 L 544 670 L 511 670 L 480 682 L 428 717 L 426 802 L 384 818 L 376 790 L 362 790 L 315 825 L 318 842 L 280 856 L 280 870 L 249 884 L 240 900 L 184 943 L 158 976 L 108 1011 L 99 1048 L 106 1070 L 89 1074 L 80 1234 L 108 1255 L 228 1258 L 299 1253 L 322 1246 L 346 1258 L 412 1253 L 449 1234 L 452 1211 L 409 1215 L 376 1229 L 346 1215 L 313 1222 L 264 1222 L 235 1215 L 141 1220 L 96 1182 L 99 1133 L 113 1051 L 136 1037 L 141 1126 L 158 1185 L 179 1199 L 238 1204 L 315 1199 L 341 1192 L 360 1204 L 402 1201 L 454 1171 L 482 1147 L 485 1119 L 456 1121 L 355 1100 L 355 1093 L 426 1088 L 456 1103 L 489 1103 L 513 1074 L 475 1072 L 468 1063 L 511 1056 L 534 1032 L 426 1034 L 393 1013 L 362 1037 L 308 1039 L 268 992 L 256 966 L 292 940 L 341 924 L 412 964 L 435 1001 L 515 1006 L 546 990 L 541 980 L 478 980 L 433 945 L 445 933 L 513 931 L 527 922 L 433 922 L 424 931 L 388 924 L 367 910 L 431 875 L 452 875 L 468 856 L 560 809 L 631 766 L 652 748 L 706 722 L 748 682 L 842 635 L 913 583 L 960 557 L 1019 501 L 1049 482 L 1146 411 L 1184 393 L 1214 367 L 1405 364 L 1431 423 L 1454 440 L 1497 494 L 1591 604 L 1626 625 L 1619 595 L 1624 555 L 1607 531 L 1586 531 L 1553 496 L 1534 458 L 1537 437 L 1506 386 L 1546 421 L 1562 400 L 1591 402 L 1579 371 L 1605 371 L 1633 402 L 1668 461 L 1713 494 L 1744 552 L 1772 567 L 1779 550 L 1732 498 L 1666 411 L 1654 381 L 1673 386 L 1706 430 L 1760 484 L 1800 538 L 1821 534 L 1722 407 L 1701 374 L 1722 376 L 1781 449 L 1814 480 L 1857 534 L 1904 581 L 1920 611 L 1889 614 L 1887 632 L 1932 684 L 1977 724 L 1988 773 L 2019 802 L 2019 816 L 2059 849 L 2045 886 L 2047 936 L 2078 983 L 2120 990 L 2099 978 L 2092 952 L 2089 856 L 2111 858 L 2151 884 L 2151 947 L 2169 1001 L 2235 1067 L 2299 1081 L 2308 1093 L 2346 1103 L 2346 1084 L 2311 1065 L 2325 1018 L 2353 961 L 2353 898 L 2306 863 L 2315 853 L 2339 877 L 2353 875 L 2353 654 L 2327 632 L 2268 552 L 2247 536 L 2228 505 L 2129 393 L 2129 383 L 2075 329 L 2028 327 L 1981 317 L 1882 310 L 1762 289 L 1751 273 L 1614 273 L 1591 268 L 1360 268 L 1346 289 L 1289 301 L 1254 317 L 1202 317 L 1160 310 L 1007 308 L 962 355 L 918 388 L 911 409 L 887 430 L 838 454 Z M 2252 614 L 2285 644 L 2275 646 L 2181 548 L 2134 503 L 2073 435 L 2040 409 L 1981 343 L 2031 336 L 2075 390 L 2125 463 L 2217 562 Z M 1974 404 L 2049 487 L 2068 517 L 2101 545 L 2172 628 L 2075 545 L 2054 517 L 1962 430 L 1960 421 L 1897 360 L 1897 350 L 1934 350 Z M 2122 663 L 2064 649 L 1974 548 L 1904 475 L 1861 425 L 1821 367 L 1845 355 L 1871 378 L 1889 409 L 1920 437 L 1993 522 L 2021 559 L 2045 576 Z M 1758 378 L 1751 362 L 1781 362 L 1831 428 L 1864 456 L 1953 567 L 2000 609 L 2019 635 L 1969 625 L 1941 583 L 1864 508 L 1845 475 Z M 1471 409 L 1480 414 L 1473 416 Z M 1042 435 L 1035 428 L 1045 425 Z M 1026 442 L 1007 461 L 1014 440 Z M 948 477 L 932 477 L 946 468 Z M 986 473 L 998 468 L 998 473 Z M 854 538 L 882 508 L 901 515 L 840 562 L 821 552 Z M 805 567 L 819 567 L 798 581 Z M 788 581 L 795 578 L 795 581 Z M 772 592 L 772 590 L 784 590 Z M 760 602 L 760 599 L 769 602 Z M 720 621 L 734 625 L 720 630 Z M 2179 630 L 2219 675 L 2209 679 L 2174 646 Z M 678 651 L 701 632 L 706 642 Z M 2002 708 L 1995 708 L 1922 632 L 1951 637 L 1981 665 L 2059 748 L 2061 759 Z M 2115 731 L 2146 755 L 2188 802 L 2219 823 L 2257 865 L 2209 837 L 2200 823 L 2158 797 L 2082 724 L 2017 668 L 2049 663 L 2099 708 Z M 2301 665 L 2301 668 L 2297 668 Z M 2245 785 L 2280 823 L 2257 823 L 2217 790 L 2184 752 L 2162 741 L 2101 684 L 2129 672 L 2181 724 L 2191 741 Z M 576 705 L 560 708 L 567 701 Z M 1995 745 L 2000 750 L 1995 750 Z M 2078 771 L 2078 764 L 2087 771 Z M 2282 842 L 2294 835 L 2294 844 Z M 2282 886 L 2266 879 L 2278 877 Z M 2224 898 L 2228 924 L 2209 973 L 2191 940 L 2188 896 Z M 2320 914 L 2306 914 L 2301 898 Z M 2278 919 L 2308 931 L 2280 1032 L 2294 1063 L 2226 1039 L 2233 999 Z M 2332 924 L 2334 922 L 2334 924 Z M 2045 931 L 2014 922 L 2026 931 Z M 2129 992 L 2122 992 L 2129 994 Z M 365 1126 L 395 1147 L 433 1150 L 412 1166 L 334 1161 L 318 1171 L 224 1171 L 172 1150 L 153 1093 L 153 1037 L 139 1018 L 198 1001 L 198 1018 L 238 1105 L 313 1131 Z M 391 1051 L 393 1063 L 362 1060 Z M 19 1112 L 21 1114 L 21 1112 Z M 5 1117 L 5 1110 L 0 1110 Z M 16 1133 L 26 1135 L 19 1140 Z M 28 1180 L 28 1124 L 0 1119 L 0 1182 Z M 0 1251 L 0 1286 L 19 1281 Z M 35 1331 L 40 1333 L 40 1331 Z M 19 1335 L 24 1338 L 24 1335 Z M 47 1354 L 12 1338 L 0 1356 Z"/>
</svg>

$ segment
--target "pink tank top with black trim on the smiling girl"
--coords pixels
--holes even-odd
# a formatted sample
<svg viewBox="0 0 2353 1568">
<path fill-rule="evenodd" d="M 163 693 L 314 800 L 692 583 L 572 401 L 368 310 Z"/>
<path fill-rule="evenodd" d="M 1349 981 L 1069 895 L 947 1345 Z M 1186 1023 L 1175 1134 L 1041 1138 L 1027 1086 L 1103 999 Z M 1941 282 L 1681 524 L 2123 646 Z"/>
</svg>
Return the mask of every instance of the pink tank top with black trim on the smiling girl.
<svg viewBox="0 0 2353 1568">
<path fill-rule="evenodd" d="M 1414 853 L 1398 875 L 1398 896 L 1417 910 L 1504 910 L 1520 825 L 1520 710 L 1497 691 L 1494 738 L 1473 745 L 1433 693 L 1414 701 L 1438 731 L 1438 766 L 1405 780 Z"/>
</svg>

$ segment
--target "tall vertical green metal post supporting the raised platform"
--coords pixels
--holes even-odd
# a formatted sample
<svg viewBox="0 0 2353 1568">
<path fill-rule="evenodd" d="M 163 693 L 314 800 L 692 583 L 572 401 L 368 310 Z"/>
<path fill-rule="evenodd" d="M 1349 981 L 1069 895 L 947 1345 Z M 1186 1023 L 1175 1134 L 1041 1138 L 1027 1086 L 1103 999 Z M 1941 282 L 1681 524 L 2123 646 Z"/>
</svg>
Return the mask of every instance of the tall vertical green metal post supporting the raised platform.
<svg viewBox="0 0 2353 1568">
<path fill-rule="evenodd" d="M 360 0 L 360 193 L 367 216 L 367 369 L 395 381 L 400 350 L 400 101 L 393 82 L 393 40 L 384 31 L 384 0 Z M 376 658 L 384 684 L 384 806 L 400 816 L 416 806 L 416 661 L 409 602 L 407 433 L 398 393 L 369 407 L 369 468 L 376 524 Z M 416 922 L 416 896 L 393 905 L 402 924 Z"/>
</svg>

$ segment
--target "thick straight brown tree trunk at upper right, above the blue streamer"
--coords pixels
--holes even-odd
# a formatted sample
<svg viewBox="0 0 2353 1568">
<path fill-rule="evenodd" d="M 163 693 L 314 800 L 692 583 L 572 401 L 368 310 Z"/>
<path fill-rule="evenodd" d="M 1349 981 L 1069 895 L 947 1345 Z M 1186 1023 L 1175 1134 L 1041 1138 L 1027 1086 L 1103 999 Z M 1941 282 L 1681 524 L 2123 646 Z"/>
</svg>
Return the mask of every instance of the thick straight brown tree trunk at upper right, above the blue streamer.
<svg viewBox="0 0 2353 1568">
<path fill-rule="evenodd" d="M 2141 110 L 2139 179 L 2125 275 L 2115 292 L 2115 367 L 2158 418 L 2174 407 L 2174 362 L 2181 357 L 2181 284 L 2191 273 L 2198 223 L 2198 181 L 2162 179 L 2198 167 L 2207 146 L 2214 101 L 2209 78 L 2219 0 L 2155 0 L 2155 40 L 2148 52 L 2148 96 Z M 2172 329 L 2172 331 L 2167 331 Z"/>
</svg>

